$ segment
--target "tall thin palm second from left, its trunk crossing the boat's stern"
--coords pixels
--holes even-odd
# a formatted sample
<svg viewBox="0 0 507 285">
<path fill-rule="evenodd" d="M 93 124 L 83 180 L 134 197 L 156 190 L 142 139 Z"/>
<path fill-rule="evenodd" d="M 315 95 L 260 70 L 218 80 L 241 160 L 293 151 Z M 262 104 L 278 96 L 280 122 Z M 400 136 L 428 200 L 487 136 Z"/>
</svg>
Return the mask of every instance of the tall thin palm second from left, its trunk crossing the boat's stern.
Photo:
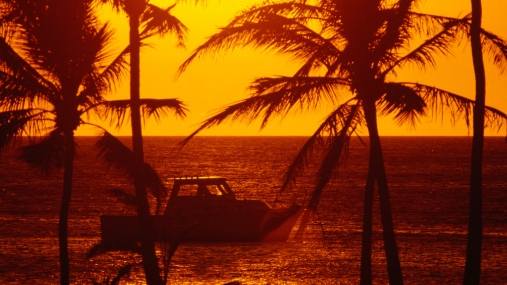
<svg viewBox="0 0 507 285">
<path fill-rule="evenodd" d="M 170 14 L 171 6 L 161 9 L 149 4 L 148 0 L 100 0 L 103 4 L 111 4 L 117 10 L 123 10 L 129 18 L 129 42 L 130 42 L 130 115 L 132 125 L 132 151 L 136 164 L 142 165 L 144 160 L 140 106 L 140 74 L 139 74 L 139 50 L 141 40 L 155 34 L 163 36 L 166 33 L 174 33 L 178 37 L 178 45 L 183 46 L 187 27 L 176 17 Z M 139 28 L 143 30 L 139 32 Z M 148 285 L 163 284 L 155 253 L 155 242 L 152 234 L 153 225 L 150 222 L 150 205 L 144 177 L 141 172 L 134 172 L 133 183 L 137 201 L 137 215 L 139 217 L 139 236 L 141 243 L 141 256 L 144 273 Z"/>
</svg>

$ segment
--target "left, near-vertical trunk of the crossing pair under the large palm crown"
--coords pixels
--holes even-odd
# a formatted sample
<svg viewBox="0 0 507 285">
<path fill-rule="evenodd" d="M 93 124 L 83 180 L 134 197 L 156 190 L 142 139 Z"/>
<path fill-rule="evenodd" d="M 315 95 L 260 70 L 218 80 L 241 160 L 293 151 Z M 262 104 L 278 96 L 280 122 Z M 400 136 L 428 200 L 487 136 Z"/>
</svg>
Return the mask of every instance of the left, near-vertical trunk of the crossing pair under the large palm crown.
<svg viewBox="0 0 507 285">
<path fill-rule="evenodd" d="M 363 237 L 361 244 L 360 285 L 372 284 L 372 226 L 373 226 L 373 194 L 375 190 L 375 172 L 371 148 L 368 178 L 365 190 L 365 209 L 363 216 Z"/>
</svg>

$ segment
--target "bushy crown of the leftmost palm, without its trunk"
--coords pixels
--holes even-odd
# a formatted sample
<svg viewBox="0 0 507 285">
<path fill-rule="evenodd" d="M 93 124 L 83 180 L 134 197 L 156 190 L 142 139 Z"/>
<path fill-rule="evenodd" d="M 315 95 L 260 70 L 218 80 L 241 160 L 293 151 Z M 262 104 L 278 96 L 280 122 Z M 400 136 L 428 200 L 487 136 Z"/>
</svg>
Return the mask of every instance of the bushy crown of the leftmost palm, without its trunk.
<svg viewBox="0 0 507 285">
<path fill-rule="evenodd" d="M 30 126 L 3 133 L 2 147 L 21 131 L 76 130 L 125 72 L 123 58 L 112 60 L 106 49 L 111 31 L 99 25 L 91 1 L 2 2 L 2 109 L 4 116 L 24 111 L 11 125 Z"/>
</svg>

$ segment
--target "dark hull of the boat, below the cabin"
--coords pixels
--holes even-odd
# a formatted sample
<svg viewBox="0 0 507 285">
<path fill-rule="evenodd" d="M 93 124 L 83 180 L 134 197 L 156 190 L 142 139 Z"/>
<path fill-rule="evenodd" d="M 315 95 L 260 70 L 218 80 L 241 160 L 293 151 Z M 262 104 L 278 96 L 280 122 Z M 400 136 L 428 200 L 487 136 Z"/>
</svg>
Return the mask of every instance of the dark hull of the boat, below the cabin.
<svg viewBox="0 0 507 285">
<path fill-rule="evenodd" d="M 194 216 L 151 216 L 158 241 L 248 242 L 286 241 L 297 219 L 298 209 L 270 209 Z M 100 216 L 103 240 L 138 240 L 134 215 Z"/>
</svg>

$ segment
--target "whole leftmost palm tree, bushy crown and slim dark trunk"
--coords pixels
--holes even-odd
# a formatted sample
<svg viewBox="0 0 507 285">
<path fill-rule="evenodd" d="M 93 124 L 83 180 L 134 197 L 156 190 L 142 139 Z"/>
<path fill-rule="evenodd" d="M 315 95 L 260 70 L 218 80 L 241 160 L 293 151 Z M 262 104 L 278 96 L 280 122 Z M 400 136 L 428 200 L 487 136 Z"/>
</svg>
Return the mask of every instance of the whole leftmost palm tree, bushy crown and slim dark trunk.
<svg viewBox="0 0 507 285">
<path fill-rule="evenodd" d="M 68 284 L 74 131 L 119 83 L 125 53 L 111 61 L 111 32 L 92 1 L 2 0 L 0 21 L 0 149 L 27 135 L 23 159 L 45 174 L 63 168 L 58 237 L 60 283 Z"/>
</svg>

